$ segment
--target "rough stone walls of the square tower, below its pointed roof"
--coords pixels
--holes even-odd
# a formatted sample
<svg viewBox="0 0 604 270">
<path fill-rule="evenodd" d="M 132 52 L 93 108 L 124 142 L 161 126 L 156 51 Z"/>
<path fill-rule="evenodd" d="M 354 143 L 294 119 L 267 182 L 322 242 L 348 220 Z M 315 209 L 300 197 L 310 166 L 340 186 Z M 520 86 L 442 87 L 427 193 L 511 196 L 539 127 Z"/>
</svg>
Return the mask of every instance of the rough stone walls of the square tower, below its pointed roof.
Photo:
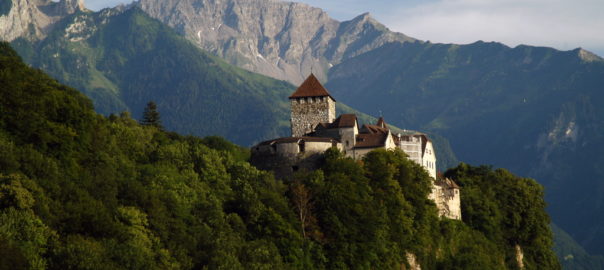
<svg viewBox="0 0 604 270">
<path fill-rule="evenodd" d="M 330 97 L 307 97 L 291 100 L 292 137 L 301 137 L 313 131 L 319 123 L 336 119 L 336 103 Z"/>
</svg>

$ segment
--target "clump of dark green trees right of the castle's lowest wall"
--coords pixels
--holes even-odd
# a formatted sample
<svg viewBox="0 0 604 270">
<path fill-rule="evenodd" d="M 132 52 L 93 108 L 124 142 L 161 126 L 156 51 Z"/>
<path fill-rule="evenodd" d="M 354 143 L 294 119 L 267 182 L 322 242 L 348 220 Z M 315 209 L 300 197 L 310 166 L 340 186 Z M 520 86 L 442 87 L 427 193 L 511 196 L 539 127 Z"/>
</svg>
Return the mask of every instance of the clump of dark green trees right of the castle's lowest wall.
<svg viewBox="0 0 604 270">
<path fill-rule="evenodd" d="M 445 173 L 461 187 L 463 221 L 499 245 L 508 263 L 516 260 L 519 245 L 526 269 L 555 269 L 549 217 L 543 187 L 504 169 L 460 164 Z"/>
</svg>

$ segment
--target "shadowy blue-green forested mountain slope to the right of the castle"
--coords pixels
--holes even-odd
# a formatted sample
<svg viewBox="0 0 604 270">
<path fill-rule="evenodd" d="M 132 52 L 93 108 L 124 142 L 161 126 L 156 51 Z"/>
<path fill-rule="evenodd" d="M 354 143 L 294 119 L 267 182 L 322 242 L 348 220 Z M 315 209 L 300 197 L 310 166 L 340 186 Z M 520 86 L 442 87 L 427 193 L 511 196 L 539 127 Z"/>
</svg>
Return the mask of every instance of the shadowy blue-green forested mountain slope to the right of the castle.
<svg viewBox="0 0 604 270">
<path fill-rule="evenodd" d="M 460 160 L 538 179 L 554 223 L 604 253 L 604 61 L 587 51 L 476 42 L 389 44 L 327 87 L 398 126 L 445 136 Z"/>
</svg>

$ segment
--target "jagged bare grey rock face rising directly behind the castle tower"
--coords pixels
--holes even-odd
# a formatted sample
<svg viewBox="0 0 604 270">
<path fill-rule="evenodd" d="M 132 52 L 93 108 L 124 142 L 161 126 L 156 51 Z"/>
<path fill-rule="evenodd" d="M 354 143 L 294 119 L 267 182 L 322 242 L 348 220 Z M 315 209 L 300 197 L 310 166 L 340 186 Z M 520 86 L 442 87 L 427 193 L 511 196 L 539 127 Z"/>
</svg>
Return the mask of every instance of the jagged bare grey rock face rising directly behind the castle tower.
<svg viewBox="0 0 604 270">
<path fill-rule="evenodd" d="M 338 22 L 306 4 L 278 0 L 140 0 L 151 17 L 228 62 L 299 84 L 347 58 L 387 42 L 394 33 L 369 14 Z"/>
</svg>

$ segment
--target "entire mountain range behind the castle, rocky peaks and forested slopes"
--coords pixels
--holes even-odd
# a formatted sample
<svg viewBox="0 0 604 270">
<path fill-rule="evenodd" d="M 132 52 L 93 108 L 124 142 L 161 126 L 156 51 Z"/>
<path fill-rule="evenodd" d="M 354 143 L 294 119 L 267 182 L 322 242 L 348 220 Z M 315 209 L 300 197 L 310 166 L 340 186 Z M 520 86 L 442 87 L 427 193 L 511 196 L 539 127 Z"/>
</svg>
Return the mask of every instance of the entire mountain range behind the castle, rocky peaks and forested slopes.
<svg viewBox="0 0 604 270">
<path fill-rule="evenodd" d="M 585 50 L 432 44 L 369 14 L 338 22 L 281 1 L 141 0 L 96 13 L 9 2 L 0 37 L 101 113 L 139 115 L 155 100 L 171 130 L 249 145 L 287 134 L 294 86 L 241 68 L 294 84 L 312 71 L 338 101 L 445 136 L 461 160 L 536 178 L 553 221 L 604 253 L 604 68 Z"/>
</svg>

